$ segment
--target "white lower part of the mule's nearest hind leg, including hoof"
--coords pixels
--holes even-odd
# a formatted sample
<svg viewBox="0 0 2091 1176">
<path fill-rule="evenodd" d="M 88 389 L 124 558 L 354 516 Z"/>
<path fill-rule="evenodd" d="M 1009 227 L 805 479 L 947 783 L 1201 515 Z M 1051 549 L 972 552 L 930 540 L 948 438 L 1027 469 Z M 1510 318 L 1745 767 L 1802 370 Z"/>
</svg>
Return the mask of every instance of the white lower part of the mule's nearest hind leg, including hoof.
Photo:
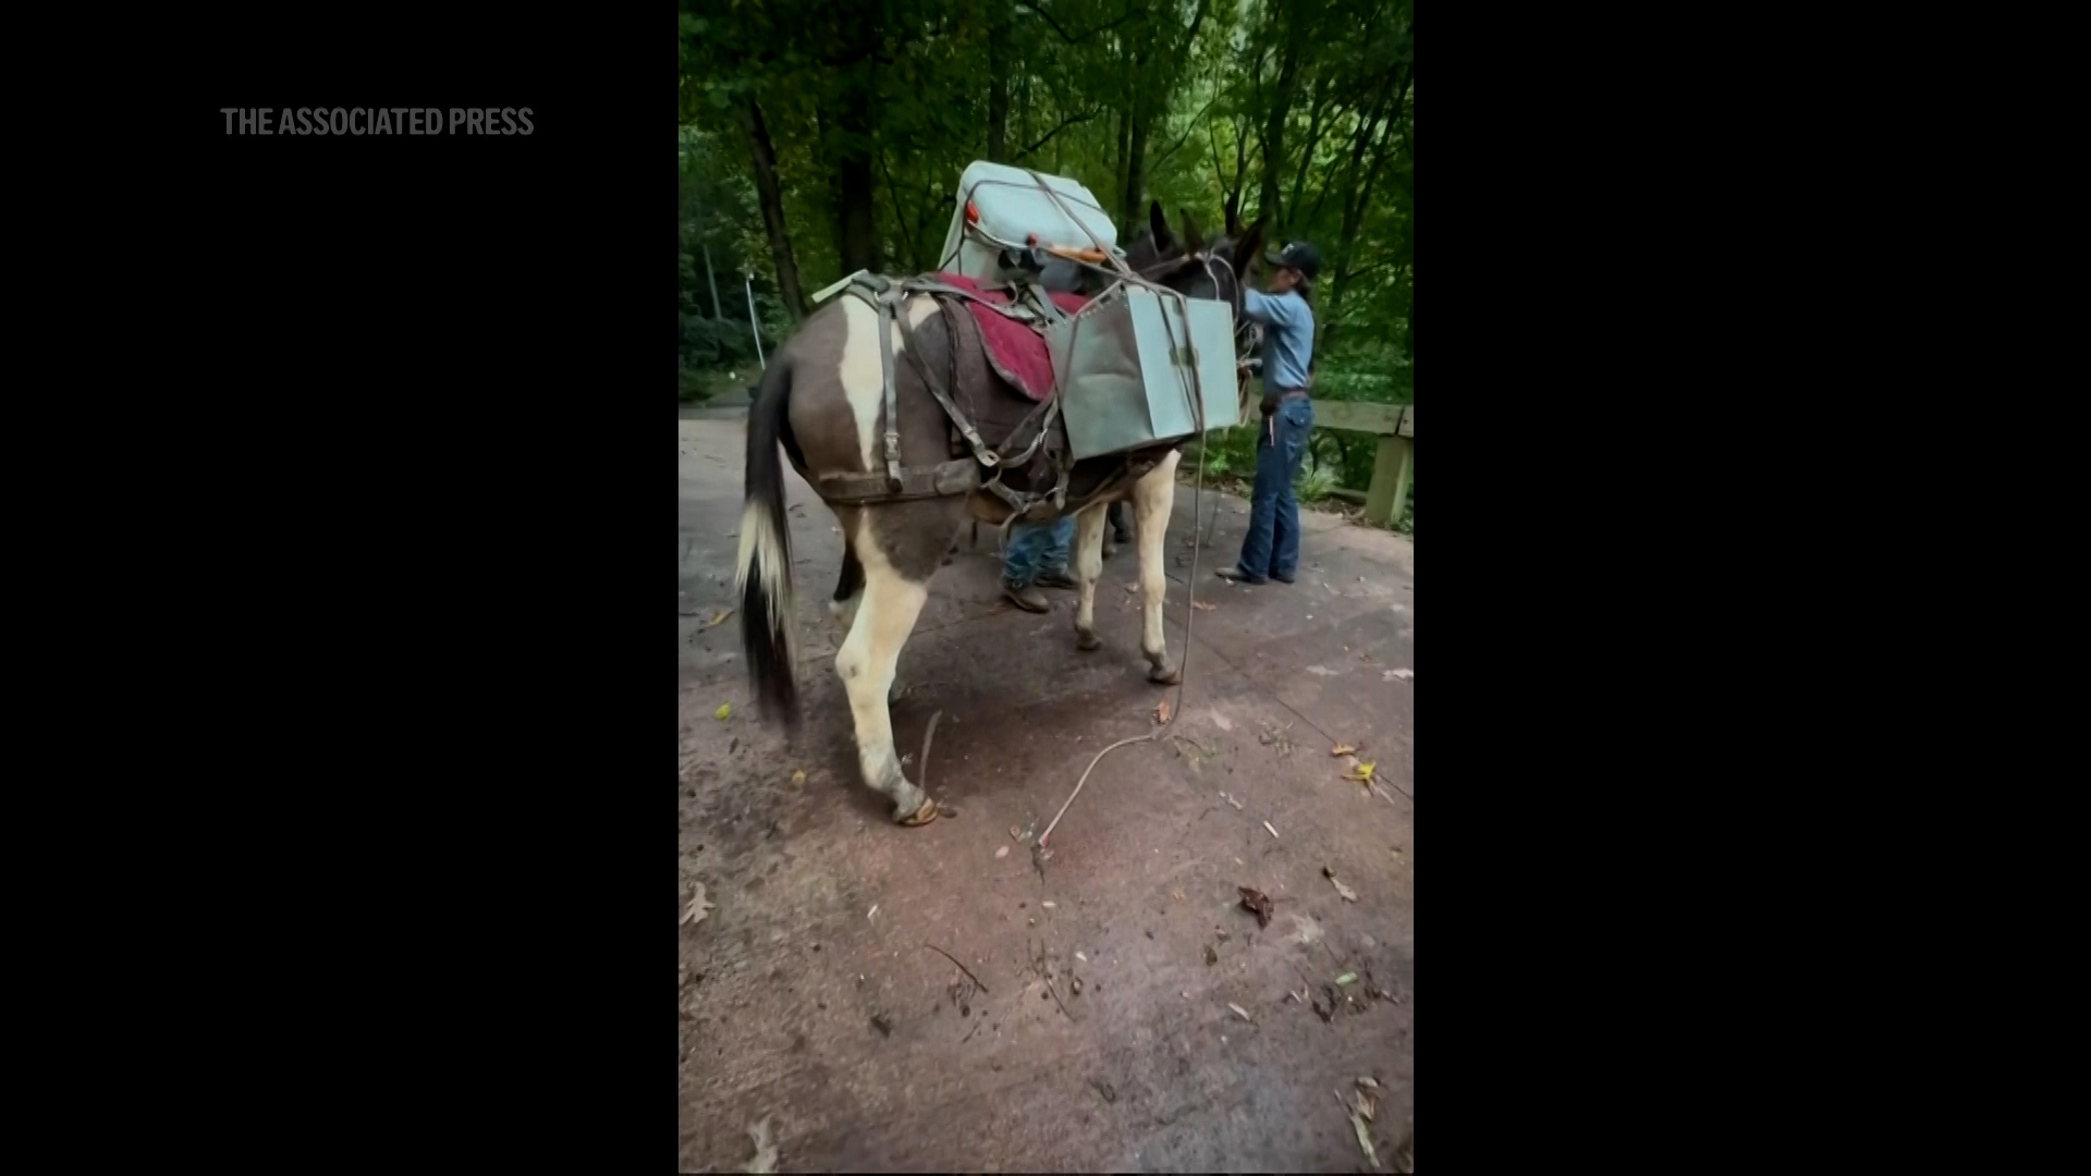
<svg viewBox="0 0 2091 1176">
<path fill-rule="evenodd" d="M 937 816 L 928 795 L 901 772 L 901 760 L 893 751 L 893 718 L 887 711 L 893 668 L 926 601 L 926 582 L 903 580 L 882 559 L 866 561 L 857 619 L 834 657 L 834 672 L 843 676 L 849 711 L 857 724 L 857 766 L 864 770 L 864 783 L 893 797 L 893 820 L 901 824 L 928 824 Z"/>
</svg>

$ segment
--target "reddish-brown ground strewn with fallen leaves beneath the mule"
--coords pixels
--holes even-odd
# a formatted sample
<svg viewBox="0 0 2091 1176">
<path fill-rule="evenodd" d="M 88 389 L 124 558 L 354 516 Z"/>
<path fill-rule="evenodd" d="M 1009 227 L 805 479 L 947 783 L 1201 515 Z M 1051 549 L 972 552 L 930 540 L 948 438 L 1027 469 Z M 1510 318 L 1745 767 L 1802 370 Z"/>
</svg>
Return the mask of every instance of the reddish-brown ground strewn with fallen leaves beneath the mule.
<svg viewBox="0 0 2091 1176">
<path fill-rule="evenodd" d="M 958 816 L 897 829 L 855 778 L 822 607 L 841 536 L 807 485 L 790 488 L 795 741 L 744 714 L 738 617 L 711 628 L 734 605 L 742 421 L 677 421 L 677 912 L 698 883 L 715 904 L 680 929 L 680 1170 L 744 1170 L 769 1117 L 786 1172 L 1370 1172 L 1332 1094 L 1361 1076 L 1393 1170 L 1414 1105 L 1414 678 L 1395 674 L 1414 668 L 1411 544 L 1305 515 L 1296 586 L 1230 588 L 1211 569 L 1240 548 L 1246 504 L 1209 494 L 1213 611 L 1181 739 L 1106 757 L 1041 877 L 1029 837 L 1098 747 L 1173 697 L 1144 680 L 1131 552 L 1104 563 L 1100 653 L 1075 651 L 1073 592 L 1037 617 L 997 609 L 991 552 L 939 573 L 893 730 L 918 751 L 943 711 L 930 791 Z M 1173 651 L 1192 527 L 1184 488 Z M 1378 789 L 1342 778 L 1334 743 L 1376 764 Z M 1269 894 L 1267 929 L 1238 885 Z"/>
</svg>

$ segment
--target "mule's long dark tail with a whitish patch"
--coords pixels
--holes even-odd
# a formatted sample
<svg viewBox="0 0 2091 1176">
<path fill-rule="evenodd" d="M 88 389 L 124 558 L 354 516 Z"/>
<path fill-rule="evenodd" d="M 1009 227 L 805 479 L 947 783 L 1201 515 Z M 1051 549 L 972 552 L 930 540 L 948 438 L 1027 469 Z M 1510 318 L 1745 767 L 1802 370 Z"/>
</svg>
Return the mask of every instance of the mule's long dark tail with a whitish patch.
<svg viewBox="0 0 2091 1176">
<path fill-rule="evenodd" d="M 784 416 L 790 400 L 790 364 L 769 368 L 761 395 L 749 406 L 746 498 L 740 506 L 740 561 L 734 592 L 740 596 L 740 642 L 749 680 L 763 718 L 799 722 L 797 640 L 790 605 L 790 519 L 784 515 Z"/>
</svg>

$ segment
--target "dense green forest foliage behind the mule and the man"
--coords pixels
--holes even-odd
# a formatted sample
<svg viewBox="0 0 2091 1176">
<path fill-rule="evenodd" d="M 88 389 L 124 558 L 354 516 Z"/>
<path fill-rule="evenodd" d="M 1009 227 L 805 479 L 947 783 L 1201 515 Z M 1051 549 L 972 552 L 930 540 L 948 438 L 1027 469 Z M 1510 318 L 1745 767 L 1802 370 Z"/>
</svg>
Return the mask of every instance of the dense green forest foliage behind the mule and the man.
<svg viewBox="0 0 2091 1176">
<path fill-rule="evenodd" d="M 767 349 L 795 322 L 782 291 L 834 282 L 849 249 L 933 270 L 999 113 L 1002 161 L 1083 182 L 1121 241 L 1148 199 L 1209 236 L 1234 209 L 1313 241 L 1315 398 L 1414 402 L 1414 0 L 684 0 L 677 38 L 677 310 L 715 318 L 705 247 L 719 285 L 719 320 L 682 322 L 686 364 L 751 360 L 751 268 Z M 864 207 L 874 241 L 847 241 Z M 1365 488 L 1374 448 L 1317 431 L 1301 492 Z M 1253 475 L 1255 429 L 1209 435 L 1200 460 Z"/>
</svg>

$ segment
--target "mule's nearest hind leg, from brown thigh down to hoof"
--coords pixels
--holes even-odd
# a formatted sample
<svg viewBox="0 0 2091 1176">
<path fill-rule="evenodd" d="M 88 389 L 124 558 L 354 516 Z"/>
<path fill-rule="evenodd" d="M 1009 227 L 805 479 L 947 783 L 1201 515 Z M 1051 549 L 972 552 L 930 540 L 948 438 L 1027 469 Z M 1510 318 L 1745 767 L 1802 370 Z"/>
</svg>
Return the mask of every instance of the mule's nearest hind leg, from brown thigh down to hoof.
<svg viewBox="0 0 2091 1176">
<path fill-rule="evenodd" d="M 958 515 L 951 502 L 926 500 L 866 506 L 855 523 L 851 546 L 864 569 L 864 598 L 834 657 L 834 672 L 849 693 L 864 783 L 893 797 L 893 820 L 926 824 L 935 820 L 937 806 L 901 772 L 887 697 L 901 647 L 928 603 L 928 578 L 958 534 Z"/>
</svg>

